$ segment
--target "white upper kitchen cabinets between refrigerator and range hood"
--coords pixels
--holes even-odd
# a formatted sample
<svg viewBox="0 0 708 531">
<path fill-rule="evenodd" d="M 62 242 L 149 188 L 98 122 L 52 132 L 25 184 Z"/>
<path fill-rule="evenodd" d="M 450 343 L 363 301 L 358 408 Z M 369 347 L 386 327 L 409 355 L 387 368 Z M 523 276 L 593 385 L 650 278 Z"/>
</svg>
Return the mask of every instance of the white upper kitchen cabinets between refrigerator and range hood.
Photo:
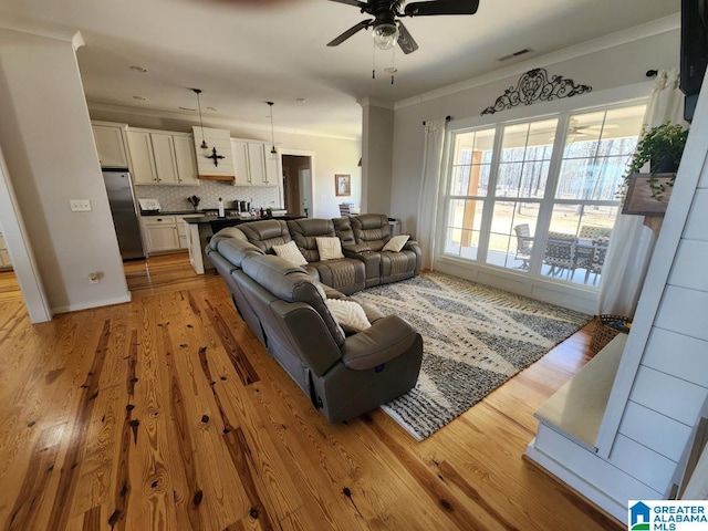
<svg viewBox="0 0 708 531">
<path fill-rule="evenodd" d="M 198 186 L 191 136 L 165 131 L 128 129 L 136 185 Z"/>
</svg>

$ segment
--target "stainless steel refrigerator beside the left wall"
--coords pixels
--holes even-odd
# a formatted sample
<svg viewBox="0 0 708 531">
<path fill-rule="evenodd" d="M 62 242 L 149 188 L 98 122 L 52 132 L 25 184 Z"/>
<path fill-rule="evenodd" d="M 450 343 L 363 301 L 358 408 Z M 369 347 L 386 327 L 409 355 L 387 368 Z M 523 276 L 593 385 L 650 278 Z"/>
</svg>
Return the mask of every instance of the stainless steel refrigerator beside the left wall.
<svg viewBox="0 0 708 531">
<path fill-rule="evenodd" d="M 123 260 L 145 258 L 131 174 L 127 168 L 103 168 L 103 180 Z"/>
</svg>

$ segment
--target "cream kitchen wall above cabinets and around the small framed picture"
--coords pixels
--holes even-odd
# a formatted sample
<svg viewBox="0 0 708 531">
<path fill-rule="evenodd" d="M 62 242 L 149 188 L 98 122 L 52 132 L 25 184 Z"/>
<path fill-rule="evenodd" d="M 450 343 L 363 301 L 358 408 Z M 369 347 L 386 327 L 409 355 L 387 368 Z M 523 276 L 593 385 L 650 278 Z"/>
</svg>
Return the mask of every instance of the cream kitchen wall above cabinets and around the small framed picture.
<svg viewBox="0 0 708 531">
<path fill-rule="evenodd" d="M 198 121 L 190 122 L 187 116 L 158 116 L 153 113 L 142 113 L 140 110 L 119 107 L 111 110 L 105 105 L 88 105 L 93 119 L 118 122 L 133 127 L 147 127 L 153 129 L 191 132 L 192 125 L 199 125 Z M 232 138 L 252 138 L 271 142 L 270 124 L 268 128 L 256 128 L 243 125 L 235 125 L 223 119 L 208 122 L 205 127 L 229 129 Z M 340 216 L 340 202 L 362 201 L 362 168 L 357 166 L 362 156 L 362 143 L 360 139 L 332 138 L 326 136 L 312 136 L 292 132 L 279 132 L 275 129 L 275 147 L 278 149 L 312 152 L 314 188 L 314 208 L 311 217 L 336 218 Z M 336 197 L 334 194 L 334 175 L 348 174 L 352 176 L 352 195 L 350 197 Z"/>
</svg>

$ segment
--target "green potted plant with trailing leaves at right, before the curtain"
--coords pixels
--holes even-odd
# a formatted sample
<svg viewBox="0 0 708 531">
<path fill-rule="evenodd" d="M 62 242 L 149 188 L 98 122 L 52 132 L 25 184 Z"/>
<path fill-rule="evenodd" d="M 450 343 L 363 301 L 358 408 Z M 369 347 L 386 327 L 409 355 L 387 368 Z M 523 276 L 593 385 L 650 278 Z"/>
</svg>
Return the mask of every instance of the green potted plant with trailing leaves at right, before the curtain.
<svg viewBox="0 0 708 531">
<path fill-rule="evenodd" d="M 659 211 L 665 210 L 687 138 L 688 129 L 684 129 L 679 124 L 670 124 L 668 122 L 644 133 L 624 177 L 624 214 L 645 214 L 644 211 L 634 211 L 637 208 L 644 208 L 643 206 L 637 206 L 636 198 L 633 197 L 637 188 L 643 187 L 642 185 L 646 185 L 648 191 L 638 191 L 639 194 L 643 194 L 643 196 L 648 195 L 659 204 L 663 204 L 663 207 L 650 205 L 648 210 L 652 214 L 656 214 L 656 209 L 659 209 Z M 647 164 L 649 165 L 649 173 L 642 174 Z M 642 199 L 646 199 L 646 197 Z"/>
</svg>

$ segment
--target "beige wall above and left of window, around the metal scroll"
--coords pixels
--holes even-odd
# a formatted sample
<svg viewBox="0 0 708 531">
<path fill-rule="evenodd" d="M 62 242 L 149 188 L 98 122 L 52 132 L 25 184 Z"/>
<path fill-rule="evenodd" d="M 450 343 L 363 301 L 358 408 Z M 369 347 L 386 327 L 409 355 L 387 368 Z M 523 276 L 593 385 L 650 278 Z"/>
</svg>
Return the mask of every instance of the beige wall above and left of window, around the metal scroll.
<svg viewBox="0 0 708 531">
<path fill-rule="evenodd" d="M 617 39 L 617 41 L 622 42 L 626 39 Z M 520 63 L 508 69 L 510 74 L 498 81 L 482 83 L 482 80 L 480 81 L 482 84 L 473 86 L 476 83 L 471 80 L 467 83 L 469 88 L 450 87 L 447 91 L 437 91 L 439 96 L 421 95 L 418 98 L 399 102 L 396 105 L 394 123 L 392 214 L 402 218 L 404 231 L 415 230 L 423 168 L 424 121 L 450 115 L 452 121 L 448 124 L 448 129 L 458 127 L 460 123 L 468 126 L 489 125 L 512 118 L 552 113 L 568 105 L 571 105 L 571 108 L 580 108 L 590 105 L 590 102 L 598 104 L 598 94 L 627 85 L 636 85 L 635 92 L 627 93 L 627 97 L 646 95 L 650 90 L 650 84 L 646 83 L 646 71 L 678 65 L 679 42 L 679 31 L 673 29 L 594 52 L 583 53 L 583 50 L 602 46 L 597 44 L 575 46 L 574 53 L 554 54 Z M 559 56 L 569 54 L 577 56 L 558 60 Z M 480 116 L 481 111 L 493 105 L 504 90 L 517 85 L 521 73 L 533 67 L 545 67 L 549 75 L 562 75 L 575 83 L 590 85 L 593 92 L 573 98 L 537 103 Z"/>
</svg>

